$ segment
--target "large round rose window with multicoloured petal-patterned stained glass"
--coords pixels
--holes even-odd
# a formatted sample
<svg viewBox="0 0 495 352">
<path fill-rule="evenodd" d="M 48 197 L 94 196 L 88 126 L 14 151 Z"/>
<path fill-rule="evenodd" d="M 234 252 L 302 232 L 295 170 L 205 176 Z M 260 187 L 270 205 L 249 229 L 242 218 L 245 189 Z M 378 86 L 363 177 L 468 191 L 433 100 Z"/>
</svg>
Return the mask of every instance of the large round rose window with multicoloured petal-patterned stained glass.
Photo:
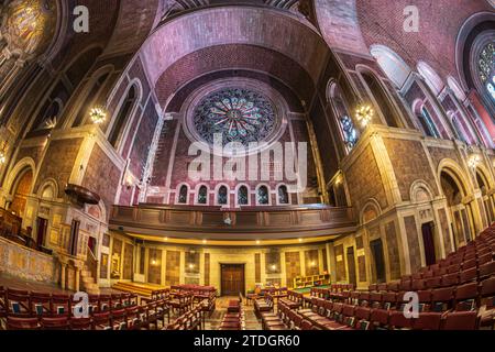
<svg viewBox="0 0 495 352">
<path fill-rule="evenodd" d="M 204 98 L 194 111 L 194 127 L 199 136 L 213 144 L 221 134 L 222 144 L 267 140 L 276 128 L 272 102 L 258 92 L 244 88 L 224 88 Z"/>
</svg>

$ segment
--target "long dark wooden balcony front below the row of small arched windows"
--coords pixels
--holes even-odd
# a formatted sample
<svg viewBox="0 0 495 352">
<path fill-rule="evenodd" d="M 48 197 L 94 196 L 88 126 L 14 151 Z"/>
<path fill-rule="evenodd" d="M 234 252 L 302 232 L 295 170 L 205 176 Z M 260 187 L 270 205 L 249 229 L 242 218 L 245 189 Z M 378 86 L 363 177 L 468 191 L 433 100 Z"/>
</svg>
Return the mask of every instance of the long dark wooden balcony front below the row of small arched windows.
<svg viewBox="0 0 495 352">
<path fill-rule="evenodd" d="M 355 230 L 351 208 L 323 205 L 287 207 L 113 206 L 110 229 L 150 235 L 251 240 L 322 237 Z"/>
</svg>

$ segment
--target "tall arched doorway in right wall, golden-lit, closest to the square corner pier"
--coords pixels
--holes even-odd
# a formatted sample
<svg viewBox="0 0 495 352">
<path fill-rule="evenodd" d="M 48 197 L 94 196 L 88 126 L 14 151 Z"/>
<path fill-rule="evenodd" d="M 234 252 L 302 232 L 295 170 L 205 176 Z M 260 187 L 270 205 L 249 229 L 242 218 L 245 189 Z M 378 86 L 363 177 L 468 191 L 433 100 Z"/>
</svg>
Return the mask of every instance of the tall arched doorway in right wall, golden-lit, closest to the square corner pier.
<svg viewBox="0 0 495 352">
<path fill-rule="evenodd" d="M 462 202 L 462 198 L 465 196 L 464 188 L 459 177 L 448 169 L 440 173 L 440 185 L 449 206 L 455 246 L 463 245 L 474 238 L 471 209 Z"/>
</svg>

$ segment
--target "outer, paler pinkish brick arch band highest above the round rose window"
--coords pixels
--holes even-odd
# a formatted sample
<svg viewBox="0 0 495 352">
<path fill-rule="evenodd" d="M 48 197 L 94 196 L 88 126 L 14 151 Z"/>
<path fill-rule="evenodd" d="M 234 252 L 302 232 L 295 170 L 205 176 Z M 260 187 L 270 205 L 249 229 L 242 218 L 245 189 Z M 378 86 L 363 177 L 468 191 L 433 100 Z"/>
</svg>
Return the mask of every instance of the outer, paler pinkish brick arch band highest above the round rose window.
<svg viewBox="0 0 495 352">
<path fill-rule="evenodd" d="M 228 44 L 249 44 L 282 53 L 302 67 L 314 82 L 330 57 L 321 36 L 298 18 L 285 11 L 248 6 L 200 9 L 174 18 L 150 35 L 140 54 L 155 86 L 162 74 L 182 57 Z"/>
</svg>

